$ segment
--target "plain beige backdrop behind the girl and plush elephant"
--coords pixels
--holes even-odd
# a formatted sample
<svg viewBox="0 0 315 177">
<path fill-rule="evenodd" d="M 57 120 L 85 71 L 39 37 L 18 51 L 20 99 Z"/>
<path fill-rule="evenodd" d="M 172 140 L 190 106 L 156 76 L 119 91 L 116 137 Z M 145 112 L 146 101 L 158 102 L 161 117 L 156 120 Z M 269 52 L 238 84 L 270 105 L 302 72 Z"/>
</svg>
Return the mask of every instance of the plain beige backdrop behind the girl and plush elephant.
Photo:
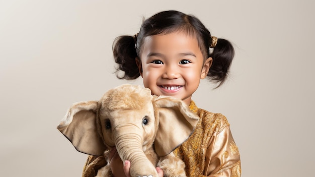
<svg viewBox="0 0 315 177">
<path fill-rule="evenodd" d="M 1 176 L 81 176 L 87 155 L 56 130 L 74 102 L 122 83 L 112 42 L 162 10 L 197 16 L 235 46 L 223 87 L 193 99 L 229 120 L 243 176 L 312 176 L 313 1 L 0 1 Z"/>
</svg>

